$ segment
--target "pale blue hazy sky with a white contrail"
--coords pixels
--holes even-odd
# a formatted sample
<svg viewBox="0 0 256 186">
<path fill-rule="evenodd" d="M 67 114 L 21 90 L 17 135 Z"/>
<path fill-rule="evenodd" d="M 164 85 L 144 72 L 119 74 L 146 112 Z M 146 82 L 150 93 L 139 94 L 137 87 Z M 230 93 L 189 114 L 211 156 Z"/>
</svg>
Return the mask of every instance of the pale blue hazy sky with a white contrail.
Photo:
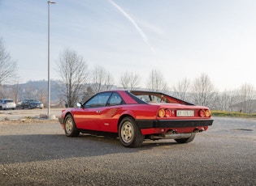
<svg viewBox="0 0 256 186">
<path fill-rule="evenodd" d="M 255 0 L 55 0 L 50 4 L 50 77 L 69 48 L 115 78 L 163 73 L 169 87 L 205 73 L 219 91 L 256 87 Z M 48 77 L 48 3 L 0 0 L 0 37 L 20 82 Z"/>
</svg>

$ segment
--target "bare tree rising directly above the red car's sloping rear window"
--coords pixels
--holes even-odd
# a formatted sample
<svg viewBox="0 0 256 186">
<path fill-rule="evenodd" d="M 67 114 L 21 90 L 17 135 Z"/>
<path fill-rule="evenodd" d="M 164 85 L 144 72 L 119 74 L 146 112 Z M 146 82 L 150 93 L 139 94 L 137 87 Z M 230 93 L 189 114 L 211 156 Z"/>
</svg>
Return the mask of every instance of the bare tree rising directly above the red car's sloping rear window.
<svg viewBox="0 0 256 186">
<path fill-rule="evenodd" d="M 158 70 L 151 70 L 146 87 L 150 91 L 167 91 L 167 83 L 163 79 L 163 74 Z"/>
</svg>

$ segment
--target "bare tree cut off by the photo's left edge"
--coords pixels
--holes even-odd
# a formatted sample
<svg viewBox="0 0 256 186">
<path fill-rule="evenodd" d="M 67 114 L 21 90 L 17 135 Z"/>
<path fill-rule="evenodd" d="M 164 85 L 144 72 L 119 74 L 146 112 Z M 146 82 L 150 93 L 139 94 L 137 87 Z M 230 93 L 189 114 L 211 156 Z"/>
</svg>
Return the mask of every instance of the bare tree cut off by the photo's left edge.
<svg viewBox="0 0 256 186">
<path fill-rule="evenodd" d="M 15 79 L 16 61 L 11 60 L 11 56 L 5 49 L 5 44 L 0 38 L 0 85 L 10 79 Z"/>
</svg>

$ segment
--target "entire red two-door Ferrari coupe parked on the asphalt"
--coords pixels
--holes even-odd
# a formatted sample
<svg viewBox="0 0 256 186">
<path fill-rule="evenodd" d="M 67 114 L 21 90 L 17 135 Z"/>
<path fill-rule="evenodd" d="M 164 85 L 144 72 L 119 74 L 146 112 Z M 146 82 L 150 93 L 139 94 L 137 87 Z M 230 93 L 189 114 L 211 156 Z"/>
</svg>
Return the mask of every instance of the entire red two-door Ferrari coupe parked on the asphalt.
<svg viewBox="0 0 256 186">
<path fill-rule="evenodd" d="M 67 137 L 79 133 L 118 133 L 123 146 L 141 146 L 145 139 L 192 142 L 213 120 L 210 109 L 152 91 L 103 91 L 78 108 L 67 108 L 59 122 Z"/>
</svg>

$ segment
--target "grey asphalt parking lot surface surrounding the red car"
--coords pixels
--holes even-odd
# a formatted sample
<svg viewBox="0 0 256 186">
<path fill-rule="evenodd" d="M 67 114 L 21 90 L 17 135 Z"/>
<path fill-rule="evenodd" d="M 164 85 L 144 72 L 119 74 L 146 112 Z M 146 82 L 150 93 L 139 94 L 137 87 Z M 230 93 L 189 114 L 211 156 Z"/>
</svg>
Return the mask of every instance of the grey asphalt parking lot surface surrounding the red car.
<svg viewBox="0 0 256 186">
<path fill-rule="evenodd" d="M 256 185 L 256 120 L 215 117 L 188 144 L 66 137 L 58 122 L 0 125 L 0 185 Z"/>
</svg>

